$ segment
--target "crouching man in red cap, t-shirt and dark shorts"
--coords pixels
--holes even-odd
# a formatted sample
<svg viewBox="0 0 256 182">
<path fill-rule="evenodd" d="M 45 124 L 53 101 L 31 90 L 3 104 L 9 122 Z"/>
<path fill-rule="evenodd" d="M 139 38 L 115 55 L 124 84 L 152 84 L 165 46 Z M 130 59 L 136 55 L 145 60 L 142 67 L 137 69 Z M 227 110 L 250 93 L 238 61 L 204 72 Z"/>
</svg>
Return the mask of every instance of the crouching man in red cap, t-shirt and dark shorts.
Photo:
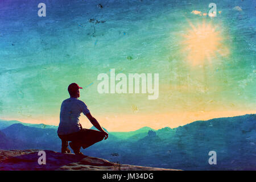
<svg viewBox="0 0 256 182">
<path fill-rule="evenodd" d="M 92 117 L 89 109 L 84 102 L 79 100 L 80 91 L 82 89 L 76 83 L 72 83 L 68 86 L 68 92 L 70 98 L 64 100 L 60 108 L 60 124 L 57 130 L 57 134 L 61 139 L 61 152 L 70 153 L 69 146 L 72 148 L 76 155 L 82 155 L 80 148 L 87 148 L 94 143 L 100 142 L 102 139 L 108 138 L 106 133 L 97 120 Z M 82 129 L 82 125 L 79 123 L 80 114 L 84 113 L 96 130 Z"/>
</svg>

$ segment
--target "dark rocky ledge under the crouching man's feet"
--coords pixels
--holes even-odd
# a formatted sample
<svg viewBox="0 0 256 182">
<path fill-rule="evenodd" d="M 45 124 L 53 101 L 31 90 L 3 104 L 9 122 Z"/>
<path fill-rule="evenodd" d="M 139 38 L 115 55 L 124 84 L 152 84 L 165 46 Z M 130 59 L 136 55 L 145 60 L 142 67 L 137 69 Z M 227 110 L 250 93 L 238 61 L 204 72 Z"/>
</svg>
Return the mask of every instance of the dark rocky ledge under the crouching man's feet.
<svg viewBox="0 0 256 182">
<path fill-rule="evenodd" d="M 105 159 L 91 156 L 77 156 L 75 154 L 61 154 L 59 152 L 44 150 L 46 152 L 46 164 L 39 165 L 40 150 L 0 150 L 1 171 L 43 171 L 43 170 L 119 170 L 119 171 L 176 171 L 176 169 L 164 169 L 154 167 L 133 166 L 117 164 Z"/>
</svg>

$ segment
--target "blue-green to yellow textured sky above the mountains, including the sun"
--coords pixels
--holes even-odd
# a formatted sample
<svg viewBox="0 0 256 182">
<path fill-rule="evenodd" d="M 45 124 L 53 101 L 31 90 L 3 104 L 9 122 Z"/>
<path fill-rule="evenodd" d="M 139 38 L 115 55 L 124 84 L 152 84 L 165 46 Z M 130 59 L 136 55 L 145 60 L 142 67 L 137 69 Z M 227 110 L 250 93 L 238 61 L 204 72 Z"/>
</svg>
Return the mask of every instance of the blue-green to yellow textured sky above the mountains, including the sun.
<svg viewBox="0 0 256 182">
<path fill-rule="evenodd" d="M 255 2 L 40 2 L 0 2 L 0 119 L 59 125 L 72 82 L 108 131 L 256 113 Z M 98 93 L 110 69 L 158 73 L 159 97 Z"/>
</svg>

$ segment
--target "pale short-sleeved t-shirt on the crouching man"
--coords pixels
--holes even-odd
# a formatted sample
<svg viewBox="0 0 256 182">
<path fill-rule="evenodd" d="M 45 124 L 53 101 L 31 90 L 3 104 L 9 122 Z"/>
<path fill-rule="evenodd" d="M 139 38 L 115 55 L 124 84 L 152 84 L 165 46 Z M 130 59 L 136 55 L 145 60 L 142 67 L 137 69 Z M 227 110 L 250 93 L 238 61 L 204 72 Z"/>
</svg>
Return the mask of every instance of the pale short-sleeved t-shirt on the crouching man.
<svg viewBox="0 0 256 182">
<path fill-rule="evenodd" d="M 59 135 L 67 135 L 80 131 L 80 114 L 90 113 L 84 102 L 77 98 L 68 98 L 64 100 L 60 107 L 60 124 L 57 130 Z"/>
</svg>

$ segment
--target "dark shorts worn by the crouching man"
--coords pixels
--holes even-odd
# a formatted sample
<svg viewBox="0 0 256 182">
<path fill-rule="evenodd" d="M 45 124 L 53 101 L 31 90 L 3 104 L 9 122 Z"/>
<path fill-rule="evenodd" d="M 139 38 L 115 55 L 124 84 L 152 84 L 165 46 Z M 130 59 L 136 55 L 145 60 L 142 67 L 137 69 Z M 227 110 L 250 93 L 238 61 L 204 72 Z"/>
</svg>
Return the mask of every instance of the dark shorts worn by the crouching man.
<svg viewBox="0 0 256 182">
<path fill-rule="evenodd" d="M 76 133 L 68 135 L 59 135 L 62 141 L 62 147 L 68 147 L 68 141 L 73 142 L 76 146 L 81 146 L 82 148 L 87 148 L 94 143 L 100 142 L 104 139 L 104 133 L 92 129 L 82 129 Z"/>
</svg>

